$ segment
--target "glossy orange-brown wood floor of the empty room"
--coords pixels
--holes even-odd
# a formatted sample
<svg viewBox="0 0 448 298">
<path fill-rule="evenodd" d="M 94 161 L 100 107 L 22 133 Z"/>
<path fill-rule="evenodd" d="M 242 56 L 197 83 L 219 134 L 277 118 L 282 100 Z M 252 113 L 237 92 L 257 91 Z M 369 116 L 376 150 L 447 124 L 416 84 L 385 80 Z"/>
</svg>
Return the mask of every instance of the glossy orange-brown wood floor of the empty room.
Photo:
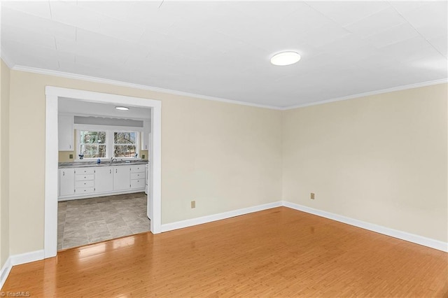
<svg viewBox="0 0 448 298">
<path fill-rule="evenodd" d="M 448 297 L 448 254 L 280 207 L 13 267 L 31 297 Z"/>
</svg>

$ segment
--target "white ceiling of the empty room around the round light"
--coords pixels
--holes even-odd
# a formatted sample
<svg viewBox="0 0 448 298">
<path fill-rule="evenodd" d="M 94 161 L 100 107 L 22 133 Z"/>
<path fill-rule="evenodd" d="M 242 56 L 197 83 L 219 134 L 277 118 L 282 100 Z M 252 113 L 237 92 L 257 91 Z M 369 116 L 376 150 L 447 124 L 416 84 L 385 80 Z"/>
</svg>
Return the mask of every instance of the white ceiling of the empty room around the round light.
<svg viewBox="0 0 448 298">
<path fill-rule="evenodd" d="M 2 57 L 286 107 L 447 75 L 447 1 L 2 1 Z M 269 64 L 296 50 L 302 60 Z"/>
</svg>

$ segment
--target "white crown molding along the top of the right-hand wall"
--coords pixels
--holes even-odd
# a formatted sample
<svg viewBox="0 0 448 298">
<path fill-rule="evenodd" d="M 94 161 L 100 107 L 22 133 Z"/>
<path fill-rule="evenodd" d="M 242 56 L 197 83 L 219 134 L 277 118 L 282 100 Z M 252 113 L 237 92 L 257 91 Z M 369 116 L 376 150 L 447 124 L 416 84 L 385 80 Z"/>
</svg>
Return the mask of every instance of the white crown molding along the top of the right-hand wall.
<svg viewBox="0 0 448 298">
<path fill-rule="evenodd" d="M 419 87 L 426 87 L 426 86 L 431 86 L 431 85 L 439 85 L 439 84 L 443 84 L 443 83 L 448 83 L 448 78 L 442 78 L 440 80 L 430 80 L 428 82 L 423 82 L 423 83 L 416 83 L 416 84 L 411 84 L 411 85 L 402 85 L 402 86 L 391 87 L 391 88 L 382 89 L 382 90 L 375 90 L 375 91 L 371 91 L 371 92 L 353 94 L 353 95 L 349 95 L 349 96 L 346 96 L 346 97 L 337 97 L 335 99 L 326 99 L 326 100 L 323 100 L 323 101 L 316 101 L 316 102 L 311 102 L 311 103 L 308 103 L 308 104 L 298 104 L 297 106 L 286 106 L 284 108 L 280 108 L 280 110 L 281 111 L 288 111 L 288 110 L 293 110 L 295 108 L 303 108 L 305 106 L 317 106 L 318 104 L 328 104 L 330 102 L 335 102 L 335 101 L 343 101 L 343 100 L 347 100 L 347 99 L 356 99 L 358 97 L 367 97 L 367 96 L 370 96 L 370 95 L 377 95 L 377 94 L 383 94 L 383 93 L 388 93 L 388 92 L 408 90 L 408 89 L 414 89 L 414 88 L 419 88 Z"/>
</svg>

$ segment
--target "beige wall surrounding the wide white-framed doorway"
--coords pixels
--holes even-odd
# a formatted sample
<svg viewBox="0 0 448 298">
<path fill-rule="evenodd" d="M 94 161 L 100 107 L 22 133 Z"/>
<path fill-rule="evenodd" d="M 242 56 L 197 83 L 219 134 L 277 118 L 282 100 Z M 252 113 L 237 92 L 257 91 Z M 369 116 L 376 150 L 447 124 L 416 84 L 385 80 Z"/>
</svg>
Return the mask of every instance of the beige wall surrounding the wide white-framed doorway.
<svg viewBox="0 0 448 298">
<path fill-rule="evenodd" d="M 10 80 L 13 255 L 43 249 L 45 85 L 162 101 L 162 224 L 281 199 L 281 111 L 22 71 Z"/>
</svg>

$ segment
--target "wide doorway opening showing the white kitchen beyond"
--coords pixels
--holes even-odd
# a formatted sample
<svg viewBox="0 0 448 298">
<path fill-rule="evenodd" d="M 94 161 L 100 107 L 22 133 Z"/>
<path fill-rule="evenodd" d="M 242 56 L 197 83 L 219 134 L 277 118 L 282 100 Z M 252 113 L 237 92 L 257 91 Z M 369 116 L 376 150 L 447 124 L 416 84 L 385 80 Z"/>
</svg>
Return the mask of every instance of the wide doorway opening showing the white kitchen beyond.
<svg viewBox="0 0 448 298">
<path fill-rule="evenodd" d="M 59 97 L 57 250 L 150 231 L 151 114 Z"/>
</svg>

